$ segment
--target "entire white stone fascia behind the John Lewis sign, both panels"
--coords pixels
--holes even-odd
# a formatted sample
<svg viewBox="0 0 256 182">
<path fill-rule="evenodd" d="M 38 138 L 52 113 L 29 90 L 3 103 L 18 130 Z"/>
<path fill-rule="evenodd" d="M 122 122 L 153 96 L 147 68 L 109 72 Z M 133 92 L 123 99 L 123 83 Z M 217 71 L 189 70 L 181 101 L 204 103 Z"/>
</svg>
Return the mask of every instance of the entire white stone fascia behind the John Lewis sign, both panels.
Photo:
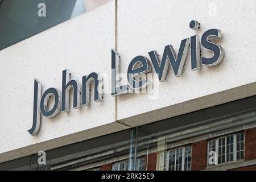
<svg viewBox="0 0 256 182">
<path fill-rule="evenodd" d="M 115 1 L 110 1 L 3 49 L 0 162 L 129 128 L 125 125 L 143 125 L 255 95 L 255 7 L 253 0 L 118 0 L 115 42 Z M 189 28 L 192 19 L 201 23 L 199 31 Z M 168 44 L 177 51 L 182 39 L 201 36 L 210 28 L 223 33 L 218 44 L 225 57 L 217 67 L 191 71 L 188 55 L 181 77 L 169 71 L 167 80 L 159 82 L 157 100 L 149 100 L 148 94 L 126 94 L 115 102 L 116 98 L 104 94 L 102 102 L 42 118 L 36 137 L 27 132 L 32 126 L 34 78 L 46 90 L 61 89 L 63 69 L 70 69 L 72 78 L 80 82 L 90 72 L 110 76 L 115 47 L 121 55 L 121 71 L 126 73 L 135 56 L 149 58 L 147 52 L 156 50 L 162 57 Z M 207 51 L 203 54 L 210 56 Z"/>
</svg>

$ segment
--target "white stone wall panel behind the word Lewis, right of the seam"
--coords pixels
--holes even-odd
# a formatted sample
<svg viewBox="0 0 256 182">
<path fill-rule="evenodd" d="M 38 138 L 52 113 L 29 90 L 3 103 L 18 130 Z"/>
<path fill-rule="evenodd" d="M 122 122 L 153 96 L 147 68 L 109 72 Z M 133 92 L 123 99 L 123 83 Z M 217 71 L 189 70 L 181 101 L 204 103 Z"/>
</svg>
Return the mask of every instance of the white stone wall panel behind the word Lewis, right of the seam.
<svg viewBox="0 0 256 182">
<path fill-rule="evenodd" d="M 177 52 L 181 40 L 196 34 L 201 36 L 210 28 L 222 31 L 223 38 L 217 43 L 225 52 L 221 64 L 212 68 L 201 67 L 200 71 L 191 71 L 188 53 L 182 76 L 175 77 L 174 72 L 169 69 L 167 80 L 159 82 L 157 100 L 148 100 L 148 94 L 118 97 L 118 120 L 135 126 L 138 122 L 154 121 L 156 117 L 164 119 L 187 113 L 188 110 L 203 109 L 237 97 L 242 98 L 243 94 L 247 96 L 248 91 L 238 93 L 237 97 L 229 93 L 225 98 L 220 99 L 218 96 L 204 104 L 201 102 L 205 99 L 201 99 L 191 105 L 187 103 L 177 107 L 177 104 L 183 102 L 256 81 L 255 17 L 256 2 L 250 0 L 118 1 L 118 52 L 122 58 L 121 72 L 127 70 L 130 60 L 135 56 L 149 58 L 148 52 L 155 50 L 162 57 L 164 47 L 168 44 L 172 44 Z M 193 19 L 201 23 L 199 31 L 189 28 L 189 22 Z M 204 49 L 202 54 L 210 57 L 210 53 Z M 254 90 L 253 92 L 255 94 Z M 157 110 L 164 107 L 167 109 Z M 153 110 L 157 112 L 147 113 Z M 134 115 L 139 119 L 133 123 Z"/>
</svg>

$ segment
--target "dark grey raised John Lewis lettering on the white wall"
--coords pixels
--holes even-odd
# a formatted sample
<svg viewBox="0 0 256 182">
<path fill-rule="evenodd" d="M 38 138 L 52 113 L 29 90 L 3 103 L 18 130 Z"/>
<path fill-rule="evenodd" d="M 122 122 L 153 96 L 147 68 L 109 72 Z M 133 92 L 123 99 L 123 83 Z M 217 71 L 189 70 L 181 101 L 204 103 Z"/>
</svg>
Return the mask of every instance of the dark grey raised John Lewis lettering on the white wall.
<svg viewBox="0 0 256 182">
<path fill-rule="evenodd" d="M 192 20 L 189 26 L 196 30 L 200 27 L 200 24 L 195 20 Z M 154 72 L 158 76 L 159 81 L 166 79 L 167 70 L 169 67 L 174 71 L 175 76 L 180 76 L 187 54 L 191 52 L 191 69 L 193 71 L 199 70 L 201 65 L 207 67 L 213 67 L 222 61 L 224 51 L 221 46 L 213 42 L 214 38 L 221 39 L 221 31 L 218 29 L 210 29 L 204 32 L 201 36 L 194 35 L 190 38 L 181 40 L 179 51 L 177 54 L 171 45 L 164 48 L 162 59 L 156 51 L 148 52 L 148 56 L 137 56 L 131 60 L 129 67 L 127 68 L 127 83 L 121 86 L 117 86 L 119 82 L 119 63 L 120 56 L 112 49 L 112 82 L 111 82 L 111 94 L 112 96 L 118 96 L 120 94 L 126 94 L 135 89 L 142 89 L 148 85 L 146 77 L 139 76 Z M 201 48 L 207 49 L 213 53 L 212 57 L 204 57 L 201 55 Z M 148 59 L 149 58 L 149 59 Z M 151 69 L 152 68 L 152 69 Z M 81 84 L 77 80 L 71 79 L 71 73 L 69 70 L 64 70 L 62 73 L 62 88 L 61 91 L 57 88 L 49 88 L 42 93 L 42 84 L 35 79 L 34 81 L 34 111 L 32 127 L 28 132 L 31 135 L 36 135 L 40 127 L 40 115 L 43 117 L 52 118 L 55 117 L 60 111 L 65 113 L 69 111 L 69 93 L 73 90 L 73 108 L 78 109 L 82 106 L 90 104 L 89 94 L 90 84 L 93 84 L 94 101 L 102 100 L 102 78 L 99 73 L 92 72 L 89 75 L 85 75 L 81 78 Z M 53 106 L 48 109 L 47 105 L 49 98 L 53 97 Z"/>
</svg>

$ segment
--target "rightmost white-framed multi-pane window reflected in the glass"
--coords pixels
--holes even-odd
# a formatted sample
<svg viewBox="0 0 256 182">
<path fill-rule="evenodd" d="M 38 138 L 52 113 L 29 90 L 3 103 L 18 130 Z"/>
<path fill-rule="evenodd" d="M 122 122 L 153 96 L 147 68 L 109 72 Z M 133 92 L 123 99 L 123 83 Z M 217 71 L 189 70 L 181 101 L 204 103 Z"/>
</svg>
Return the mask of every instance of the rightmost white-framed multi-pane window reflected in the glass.
<svg viewBox="0 0 256 182">
<path fill-rule="evenodd" d="M 237 159 L 237 135 L 238 134 L 243 135 L 243 150 L 242 150 L 243 151 L 243 158 L 242 159 Z M 233 160 L 227 162 L 227 155 L 229 155 L 227 153 L 227 146 L 228 146 L 227 138 L 231 137 L 231 136 L 233 137 L 233 152 L 229 151 L 229 154 L 233 153 Z M 218 148 L 220 147 L 219 146 L 219 139 L 222 139 L 222 138 L 225 138 L 225 162 L 224 163 L 218 163 L 218 157 L 219 157 Z M 209 143 L 213 142 L 213 141 L 215 142 L 215 147 L 212 147 L 212 148 L 215 148 L 215 152 L 216 152 L 216 155 L 217 155 L 217 161 L 216 161 L 216 164 L 210 165 L 209 164 Z M 241 143 L 241 139 L 240 139 L 240 143 Z M 241 152 L 241 148 L 240 148 L 240 151 L 238 151 L 238 152 Z M 220 165 L 241 162 L 243 160 L 245 160 L 245 131 L 239 131 L 239 132 L 228 134 L 228 135 L 222 135 L 218 138 L 208 139 L 208 142 L 207 142 L 207 167 L 216 167 L 216 166 L 220 166 Z"/>
</svg>

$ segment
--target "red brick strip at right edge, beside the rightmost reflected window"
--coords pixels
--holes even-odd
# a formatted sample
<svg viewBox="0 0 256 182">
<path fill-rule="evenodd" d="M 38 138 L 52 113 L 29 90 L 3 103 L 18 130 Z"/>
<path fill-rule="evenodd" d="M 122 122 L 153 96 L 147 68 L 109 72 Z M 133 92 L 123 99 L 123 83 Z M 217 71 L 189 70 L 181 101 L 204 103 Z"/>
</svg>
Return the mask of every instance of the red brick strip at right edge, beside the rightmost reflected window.
<svg viewBox="0 0 256 182">
<path fill-rule="evenodd" d="M 256 159 L 256 127 L 245 130 L 245 160 Z"/>
</svg>

